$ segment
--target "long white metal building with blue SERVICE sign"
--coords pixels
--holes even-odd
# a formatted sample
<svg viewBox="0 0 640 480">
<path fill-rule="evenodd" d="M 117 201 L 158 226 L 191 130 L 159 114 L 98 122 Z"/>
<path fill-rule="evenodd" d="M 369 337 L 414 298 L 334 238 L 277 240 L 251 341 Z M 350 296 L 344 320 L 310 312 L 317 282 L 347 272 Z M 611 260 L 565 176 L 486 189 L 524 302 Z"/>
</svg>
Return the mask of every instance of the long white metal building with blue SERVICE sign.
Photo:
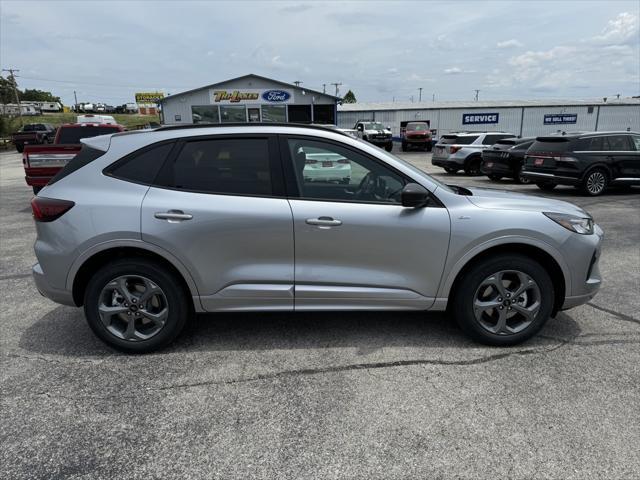
<svg viewBox="0 0 640 480">
<path fill-rule="evenodd" d="M 351 103 L 338 107 L 338 127 L 376 120 L 400 136 L 400 122 L 428 120 L 436 136 L 457 131 L 505 131 L 536 136 L 558 131 L 640 131 L 640 98 L 485 102 Z"/>
</svg>

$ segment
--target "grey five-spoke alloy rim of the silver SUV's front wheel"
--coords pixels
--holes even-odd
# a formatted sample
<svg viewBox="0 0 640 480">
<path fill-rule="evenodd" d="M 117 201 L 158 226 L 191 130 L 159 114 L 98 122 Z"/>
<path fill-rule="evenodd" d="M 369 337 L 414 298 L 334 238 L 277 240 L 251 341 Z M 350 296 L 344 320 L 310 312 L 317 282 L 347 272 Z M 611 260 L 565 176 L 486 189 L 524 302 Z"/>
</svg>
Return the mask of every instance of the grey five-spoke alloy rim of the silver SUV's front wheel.
<svg viewBox="0 0 640 480">
<path fill-rule="evenodd" d="M 523 331 L 535 320 L 541 306 L 538 284 L 518 270 L 502 270 L 489 275 L 473 299 L 476 321 L 495 335 Z"/>
</svg>

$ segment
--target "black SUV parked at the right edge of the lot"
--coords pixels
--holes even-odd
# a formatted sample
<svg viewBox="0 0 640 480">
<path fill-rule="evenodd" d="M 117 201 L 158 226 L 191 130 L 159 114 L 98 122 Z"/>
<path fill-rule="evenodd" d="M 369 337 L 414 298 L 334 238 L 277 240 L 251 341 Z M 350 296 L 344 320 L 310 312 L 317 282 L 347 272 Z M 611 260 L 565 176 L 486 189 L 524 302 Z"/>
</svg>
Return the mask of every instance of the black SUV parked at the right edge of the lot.
<svg viewBox="0 0 640 480">
<path fill-rule="evenodd" d="M 591 132 L 538 137 L 525 155 L 522 176 L 542 190 L 574 185 L 600 195 L 610 185 L 640 185 L 640 134 Z"/>
</svg>

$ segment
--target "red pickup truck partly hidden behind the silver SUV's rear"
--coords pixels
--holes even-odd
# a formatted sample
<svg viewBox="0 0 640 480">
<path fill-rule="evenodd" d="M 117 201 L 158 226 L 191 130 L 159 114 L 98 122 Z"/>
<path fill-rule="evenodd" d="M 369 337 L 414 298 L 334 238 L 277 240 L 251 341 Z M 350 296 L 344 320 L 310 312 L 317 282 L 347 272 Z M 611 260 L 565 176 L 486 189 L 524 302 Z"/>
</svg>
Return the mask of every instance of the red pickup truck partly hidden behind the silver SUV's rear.
<svg viewBox="0 0 640 480">
<path fill-rule="evenodd" d="M 26 145 L 22 164 L 27 185 L 37 194 L 80 151 L 80 139 L 124 131 L 122 125 L 68 123 L 58 127 L 53 145 Z"/>
</svg>

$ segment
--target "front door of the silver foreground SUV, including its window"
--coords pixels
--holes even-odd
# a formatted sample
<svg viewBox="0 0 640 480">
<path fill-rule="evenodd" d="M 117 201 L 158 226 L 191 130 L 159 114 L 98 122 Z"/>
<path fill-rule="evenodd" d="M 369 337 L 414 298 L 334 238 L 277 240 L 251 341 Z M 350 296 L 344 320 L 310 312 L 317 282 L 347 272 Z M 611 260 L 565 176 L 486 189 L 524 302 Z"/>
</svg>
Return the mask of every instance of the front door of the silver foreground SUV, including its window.
<svg viewBox="0 0 640 480">
<path fill-rule="evenodd" d="M 295 235 L 295 309 L 426 309 L 436 296 L 450 221 L 437 200 L 403 208 L 411 179 L 355 147 L 282 136 Z M 304 173 L 306 152 L 346 159 L 348 182 Z"/>
</svg>

